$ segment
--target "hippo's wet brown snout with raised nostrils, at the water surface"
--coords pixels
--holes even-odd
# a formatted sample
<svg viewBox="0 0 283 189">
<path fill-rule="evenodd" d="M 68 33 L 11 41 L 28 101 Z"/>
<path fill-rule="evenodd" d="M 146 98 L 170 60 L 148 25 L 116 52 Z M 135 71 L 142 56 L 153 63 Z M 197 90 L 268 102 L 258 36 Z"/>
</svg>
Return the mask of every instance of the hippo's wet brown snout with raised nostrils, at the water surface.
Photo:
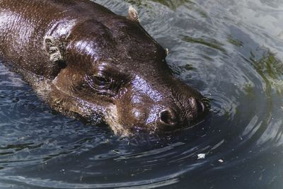
<svg viewBox="0 0 283 189">
<path fill-rule="evenodd" d="M 122 128 L 121 131 L 113 129 L 115 132 L 162 134 L 192 127 L 207 113 L 205 98 L 178 79 L 168 75 L 158 76 L 155 81 L 141 78 L 132 77 L 127 87 L 113 97 L 117 118 L 109 125 Z"/>
</svg>

